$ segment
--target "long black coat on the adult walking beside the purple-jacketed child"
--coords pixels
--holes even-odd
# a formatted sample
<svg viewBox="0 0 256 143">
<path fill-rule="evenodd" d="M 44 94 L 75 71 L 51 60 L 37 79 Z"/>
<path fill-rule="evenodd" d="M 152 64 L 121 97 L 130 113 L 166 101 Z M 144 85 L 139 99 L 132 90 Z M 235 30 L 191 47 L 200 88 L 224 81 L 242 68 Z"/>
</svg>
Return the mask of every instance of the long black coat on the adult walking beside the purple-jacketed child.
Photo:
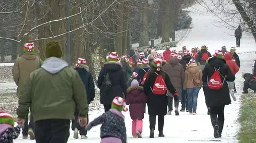
<svg viewBox="0 0 256 143">
<path fill-rule="evenodd" d="M 157 72 L 159 74 L 159 72 Z M 171 92 L 172 95 L 176 93 L 175 88 L 173 87 L 171 80 L 167 73 L 162 71 L 163 78 L 167 89 Z M 148 96 L 148 114 L 149 115 L 166 115 L 167 114 L 167 105 L 168 105 L 168 98 L 167 92 L 164 95 L 154 95 L 152 90 L 153 85 L 155 83 L 157 74 L 155 72 L 149 72 L 149 75 L 143 85 L 144 92 Z M 151 87 L 151 89 L 150 89 Z"/>
</svg>

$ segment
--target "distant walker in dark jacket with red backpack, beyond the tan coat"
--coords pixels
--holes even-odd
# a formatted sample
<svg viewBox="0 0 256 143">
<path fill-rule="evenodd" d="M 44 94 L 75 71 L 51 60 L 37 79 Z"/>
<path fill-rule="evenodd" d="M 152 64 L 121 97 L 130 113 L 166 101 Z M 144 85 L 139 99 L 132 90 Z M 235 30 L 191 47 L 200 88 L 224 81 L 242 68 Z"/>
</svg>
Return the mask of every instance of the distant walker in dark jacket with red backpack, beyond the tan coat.
<svg viewBox="0 0 256 143">
<path fill-rule="evenodd" d="M 196 60 L 201 65 L 201 70 L 204 70 L 204 66 L 206 65 L 206 60 L 208 60 L 209 57 L 211 57 L 211 53 L 207 51 L 207 47 L 205 45 L 201 46 L 201 52 L 198 53 L 198 56 Z"/>
</svg>

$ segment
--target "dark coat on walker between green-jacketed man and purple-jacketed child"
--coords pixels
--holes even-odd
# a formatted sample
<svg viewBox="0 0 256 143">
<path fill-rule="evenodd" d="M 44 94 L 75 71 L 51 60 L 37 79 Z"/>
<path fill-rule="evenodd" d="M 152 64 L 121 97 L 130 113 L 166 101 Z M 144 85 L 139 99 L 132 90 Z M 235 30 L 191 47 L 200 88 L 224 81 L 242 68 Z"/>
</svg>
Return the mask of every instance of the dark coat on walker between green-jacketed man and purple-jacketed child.
<svg viewBox="0 0 256 143">
<path fill-rule="evenodd" d="M 111 80 L 111 88 L 107 93 L 102 93 L 102 83 L 105 79 L 105 75 L 109 74 Z M 110 105 L 112 100 L 116 97 L 124 97 L 126 95 L 126 76 L 122 70 L 122 66 L 117 62 L 106 62 L 103 68 L 100 70 L 97 85 L 100 88 L 100 103 Z"/>
</svg>

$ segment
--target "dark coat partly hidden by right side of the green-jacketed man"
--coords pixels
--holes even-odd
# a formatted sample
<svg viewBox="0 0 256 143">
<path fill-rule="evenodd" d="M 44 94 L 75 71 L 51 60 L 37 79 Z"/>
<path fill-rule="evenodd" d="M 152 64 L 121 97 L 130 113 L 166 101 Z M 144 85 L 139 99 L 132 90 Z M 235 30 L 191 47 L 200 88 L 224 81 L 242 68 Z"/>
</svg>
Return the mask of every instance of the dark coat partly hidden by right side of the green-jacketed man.
<svg viewBox="0 0 256 143">
<path fill-rule="evenodd" d="M 75 70 L 79 73 L 79 76 L 84 83 L 87 94 L 87 103 L 90 104 L 95 97 L 95 86 L 92 74 L 84 68 L 75 68 Z"/>
</svg>

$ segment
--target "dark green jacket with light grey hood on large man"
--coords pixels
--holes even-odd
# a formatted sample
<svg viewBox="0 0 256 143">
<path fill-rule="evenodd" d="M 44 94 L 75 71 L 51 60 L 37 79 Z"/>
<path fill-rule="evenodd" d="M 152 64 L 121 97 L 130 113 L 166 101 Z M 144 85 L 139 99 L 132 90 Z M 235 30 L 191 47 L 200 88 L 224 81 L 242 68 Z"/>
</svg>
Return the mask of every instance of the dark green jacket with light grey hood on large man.
<svg viewBox="0 0 256 143">
<path fill-rule="evenodd" d="M 57 57 L 47 58 L 32 72 L 19 98 L 17 115 L 25 119 L 29 107 L 34 122 L 46 119 L 72 119 L 75 105 L 80 116 L 89 111 L 84 84 L 79 74 Z"/>
</svg>

